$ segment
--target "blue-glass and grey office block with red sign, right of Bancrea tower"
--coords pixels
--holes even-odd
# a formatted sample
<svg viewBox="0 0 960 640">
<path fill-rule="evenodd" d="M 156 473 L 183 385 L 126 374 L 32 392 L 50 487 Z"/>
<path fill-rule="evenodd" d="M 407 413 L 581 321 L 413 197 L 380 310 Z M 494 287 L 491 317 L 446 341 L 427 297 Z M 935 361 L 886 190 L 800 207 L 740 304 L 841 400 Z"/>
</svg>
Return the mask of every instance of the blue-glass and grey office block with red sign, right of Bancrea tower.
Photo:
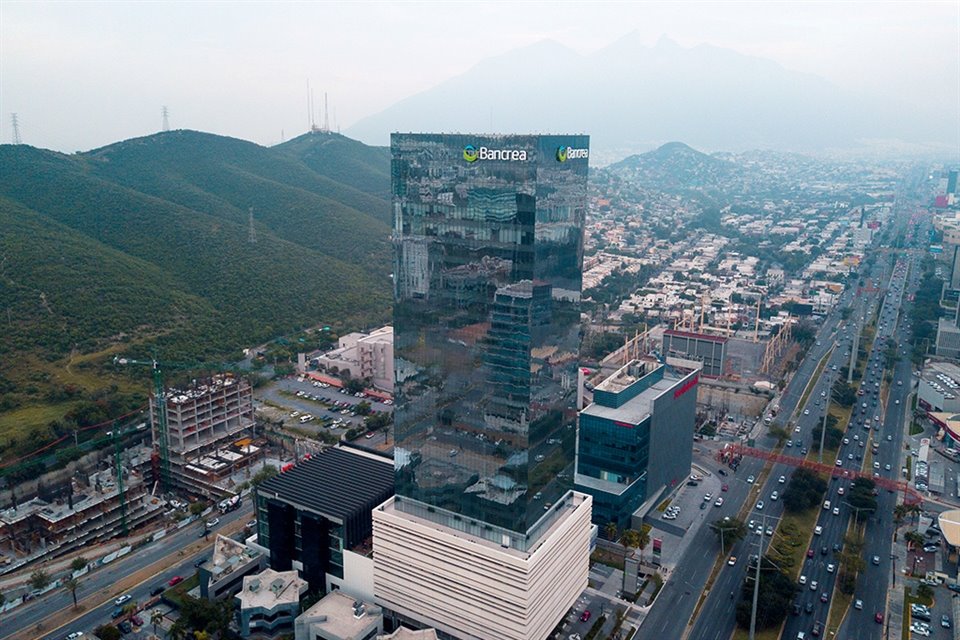
<svg viewBox="0 0 960 640">
<path fill-rule="evenodd" d="M 699 371 L 634 360 L 594 388 L 580 412 L 576 476 L 594 524 L 630 528 L 689 475 L 698 381 Z"/>
</svg>

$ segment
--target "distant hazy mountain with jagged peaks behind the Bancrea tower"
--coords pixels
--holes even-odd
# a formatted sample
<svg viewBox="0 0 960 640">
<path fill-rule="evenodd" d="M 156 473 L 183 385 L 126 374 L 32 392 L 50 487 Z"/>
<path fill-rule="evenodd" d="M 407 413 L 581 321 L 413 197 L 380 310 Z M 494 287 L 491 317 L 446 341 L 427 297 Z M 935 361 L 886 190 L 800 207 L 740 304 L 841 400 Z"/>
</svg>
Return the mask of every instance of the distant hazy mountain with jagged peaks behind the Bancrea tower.
<svg viewBox="0 0 960 640">
<path fill-rule="evenodd" d="M 487 59 L 346 133 L 386 144 L 391 131 L 587 132 L 619 159 L 678 139 L 732 151 L 849 149 L 879 138 L 952 148 L 944 136 L 955 130 L 896 96 L 856 95 L 716 46 L 662 38 L 650 47 L 632 34 L 588 55 L 542 41 Z"/>
</svg>

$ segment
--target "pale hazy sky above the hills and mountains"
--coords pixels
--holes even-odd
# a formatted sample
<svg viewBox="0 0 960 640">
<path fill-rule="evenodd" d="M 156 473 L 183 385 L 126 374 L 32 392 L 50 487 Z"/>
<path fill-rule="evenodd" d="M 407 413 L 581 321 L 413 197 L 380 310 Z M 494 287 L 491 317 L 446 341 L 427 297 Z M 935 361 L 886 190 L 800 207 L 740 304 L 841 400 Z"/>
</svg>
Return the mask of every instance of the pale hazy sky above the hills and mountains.
<svg viewBox="0 0 960 640">
<path fill-rule="evenodd" d="M 960 0 L 805 3 L 15 2 L 0 0 L 0 141 L 87 150 L 172 128 L 261 144 L 342 128 L 492 55 L 636 32 L 710 43 L 866 94 L 956 111 Z M 334 112 L 336 114 L 334 118 Z M 960 126 L 960 125 L 958 125 Z"/>
</svg>

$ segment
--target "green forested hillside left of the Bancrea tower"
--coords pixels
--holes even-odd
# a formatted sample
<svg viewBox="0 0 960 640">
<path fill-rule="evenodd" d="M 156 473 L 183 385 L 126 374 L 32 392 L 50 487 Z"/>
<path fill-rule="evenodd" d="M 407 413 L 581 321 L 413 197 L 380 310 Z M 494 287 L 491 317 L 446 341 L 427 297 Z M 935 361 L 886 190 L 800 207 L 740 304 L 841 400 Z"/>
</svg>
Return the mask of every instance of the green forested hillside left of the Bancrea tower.
<svg viewBox="0 0 960 640">
<path fill-rule="evenodd" d="M 105 366 L 113 354 L 217 361 L 318 323 L 389 317 L 384 194 L 290 149 L 190 131 L 75 155 L 3 145 L 0 175 L 0 453 L 4 430 L 137 391 Z"/>
</svg>

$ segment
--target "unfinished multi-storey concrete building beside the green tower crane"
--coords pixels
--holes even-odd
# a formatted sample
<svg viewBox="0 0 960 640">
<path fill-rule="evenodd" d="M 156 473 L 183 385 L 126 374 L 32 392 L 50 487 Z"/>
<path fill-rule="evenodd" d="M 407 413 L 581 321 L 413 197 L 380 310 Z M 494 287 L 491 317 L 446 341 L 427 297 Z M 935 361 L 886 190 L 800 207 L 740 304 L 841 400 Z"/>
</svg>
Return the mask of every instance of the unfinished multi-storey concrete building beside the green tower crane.
<svg viewBox="0 0 960 640">
<path fill-rule="evenodd" d="M 185 389 L 167 388 L 166 446 L 160 442 L 157 401 L 150 399 L 156 477 L 161 477 L 166 452 L 170 488 L 191 493 L 230 493 L 231 476 L 261 456 L 254 441 L 253 388 L 244 378 L 217 375 L 195 380 Z"/>
</svg>

